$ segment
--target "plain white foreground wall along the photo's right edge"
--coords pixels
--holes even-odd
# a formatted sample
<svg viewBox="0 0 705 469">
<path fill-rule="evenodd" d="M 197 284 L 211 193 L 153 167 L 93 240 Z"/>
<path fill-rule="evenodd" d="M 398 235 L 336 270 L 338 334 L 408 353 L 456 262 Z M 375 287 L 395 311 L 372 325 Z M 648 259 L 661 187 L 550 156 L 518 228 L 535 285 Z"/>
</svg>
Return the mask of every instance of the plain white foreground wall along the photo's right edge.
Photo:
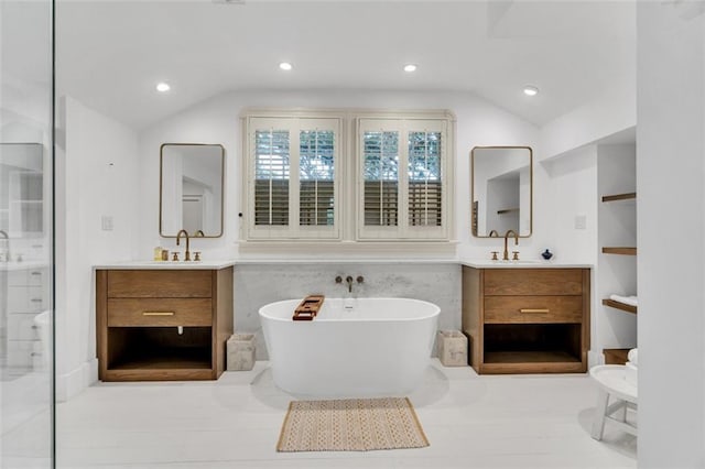
<svg viewBox="0 0 705 469">
<path fill-rule="evenodd" d="M 638 2 L 639 467 L 705 467 L 705 19 Z"/>
</svg>

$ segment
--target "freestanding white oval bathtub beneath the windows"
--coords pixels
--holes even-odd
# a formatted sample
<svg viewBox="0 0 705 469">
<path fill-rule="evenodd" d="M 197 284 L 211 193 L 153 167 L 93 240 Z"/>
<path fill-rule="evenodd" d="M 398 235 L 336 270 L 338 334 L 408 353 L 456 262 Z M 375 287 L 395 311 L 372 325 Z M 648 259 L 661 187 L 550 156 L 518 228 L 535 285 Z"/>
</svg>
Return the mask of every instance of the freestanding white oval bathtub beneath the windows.
<svg viewBox="0 0 705 469">
<path fill-rule="evenodd" d="M 292 320 L 301 299 L 260 308 L 274 383 L 293 394 L 409 393 L 421 382 L 438 306 L 409 298 L 326 298 L 313 320 Z"/>
</svg>

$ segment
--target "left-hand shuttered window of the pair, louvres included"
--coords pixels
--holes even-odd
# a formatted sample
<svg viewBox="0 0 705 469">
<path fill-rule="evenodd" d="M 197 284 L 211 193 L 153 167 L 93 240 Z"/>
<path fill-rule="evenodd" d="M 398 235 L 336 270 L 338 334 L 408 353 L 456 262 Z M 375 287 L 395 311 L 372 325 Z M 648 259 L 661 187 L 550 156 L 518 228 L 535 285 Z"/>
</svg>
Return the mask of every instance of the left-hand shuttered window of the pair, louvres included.
<svg viewBox="0 0 705 469">
<path fill-rule="evenodd" d="M 339 238 L 340 119 L 247 119 L 247 239 Z"/>
</svg>

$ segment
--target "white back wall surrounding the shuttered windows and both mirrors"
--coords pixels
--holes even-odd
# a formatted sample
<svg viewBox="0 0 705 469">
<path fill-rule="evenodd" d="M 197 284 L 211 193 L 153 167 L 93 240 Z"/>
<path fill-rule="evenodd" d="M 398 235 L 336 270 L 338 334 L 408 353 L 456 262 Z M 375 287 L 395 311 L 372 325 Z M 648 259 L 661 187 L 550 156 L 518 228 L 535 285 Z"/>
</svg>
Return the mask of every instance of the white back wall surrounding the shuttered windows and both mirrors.
<svg viewBox="0 0 705 469">
<path fill-rule="evenodd" d="M 196 240 L 195 246 L 207 258 L 238 254 L 238 217 L 240 209 L 240 121 L 247 107 L 269 108 L 387 108 L 387 109 L 449 109 L 457 118 L 455 164 L 455 225 L 459 242 L 458 253 L 465 258 L 487 258 L 498 246 L 497 240 L 475 239 L 470 236 L 469 152 L 475 145 L 536 146 L 538 129 L 471 94 L 460 92 L 395 92 L 395 91 L 290 91 L 229 92 L 189 108 L 140 134 L 141 206 L 139 241 L 140 258 L 148 259 L 155 243 L 167 249 L 174 240 L 159 239 L 159 146 L 164 142 L 221 143 L 226 149 L 225 230 L 219 239 Z M 546 176 L 534 173 L 534 236 L 522 239 L 519 250 L 525 259 L 538 258 L 550 229 L 544 222 L 549 211 L 545 199 Z M 544 211 L 545 208 L 545 211 Z M 330 254 L 340 257 L 340 253 Z"/>
</svg>

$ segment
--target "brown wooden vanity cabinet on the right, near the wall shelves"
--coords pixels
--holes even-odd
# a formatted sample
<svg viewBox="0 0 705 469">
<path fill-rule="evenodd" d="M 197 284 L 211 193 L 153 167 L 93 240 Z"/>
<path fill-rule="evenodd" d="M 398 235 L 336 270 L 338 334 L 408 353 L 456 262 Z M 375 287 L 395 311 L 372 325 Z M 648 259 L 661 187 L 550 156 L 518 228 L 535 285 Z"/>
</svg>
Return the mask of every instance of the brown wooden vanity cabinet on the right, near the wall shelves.
<svg viewBox="0 0 705 469">
<path fill-rule="evenodd" d="M 479 374 L 587 371 L 589 269 L 463 268 L 463 331 Z"/>
</svg>

